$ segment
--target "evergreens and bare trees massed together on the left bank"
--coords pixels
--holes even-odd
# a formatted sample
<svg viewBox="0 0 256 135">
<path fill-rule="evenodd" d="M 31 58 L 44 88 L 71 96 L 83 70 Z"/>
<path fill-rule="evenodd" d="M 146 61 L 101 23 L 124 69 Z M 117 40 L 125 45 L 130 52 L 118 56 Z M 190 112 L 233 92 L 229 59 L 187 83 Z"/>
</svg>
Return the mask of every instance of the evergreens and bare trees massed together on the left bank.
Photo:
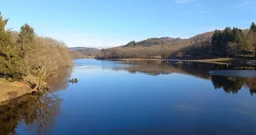
<svg viewBox="0 0 256 135">
<path fill-rule="evenodd" d="M 5 26 L 0 12 L 0 76 L 9 80 L 23 80 L 35 90 L 42 91 L 59 69 L 71 66 L 66 44 L 50 37 L 40 37 L 29 24 L 12 31 Z"/>
</svg>

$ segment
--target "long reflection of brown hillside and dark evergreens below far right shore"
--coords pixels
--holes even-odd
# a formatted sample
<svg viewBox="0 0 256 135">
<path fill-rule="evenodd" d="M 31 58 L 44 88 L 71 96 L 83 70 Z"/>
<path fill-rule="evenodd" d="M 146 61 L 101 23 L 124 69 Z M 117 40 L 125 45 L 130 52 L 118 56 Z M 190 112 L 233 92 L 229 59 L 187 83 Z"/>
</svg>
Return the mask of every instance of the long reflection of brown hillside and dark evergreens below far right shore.
<svg viewBox="0 0 256 135">
<path fill-rule="evenodd" d="M 228 66 L 200 62 L 168 63 L 161 61 L 141 61 L 132 64 L 136 66 L 117 67 L 113 70 L 126 70 L 130 73 L 145 73 L 152 76 L 181 73 L 204 80 L 212 80 L 215 89 L 222 88 L 227 94 L 237 94 L 242 87 L 249 89 L 251 94 L 256 94 L 255 66 Z"/>
</svg>

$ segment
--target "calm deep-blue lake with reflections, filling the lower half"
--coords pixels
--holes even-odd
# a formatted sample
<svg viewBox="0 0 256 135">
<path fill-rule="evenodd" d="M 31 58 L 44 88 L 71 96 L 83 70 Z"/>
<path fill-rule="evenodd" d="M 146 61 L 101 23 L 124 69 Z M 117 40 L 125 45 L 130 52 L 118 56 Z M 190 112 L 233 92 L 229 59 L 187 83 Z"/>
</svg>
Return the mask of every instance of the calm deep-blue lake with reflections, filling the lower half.
<svg viewBox="0 0 256 135">
<path fill-rule="evenodd" d="M 256 134 L 255 69 L 77 59 L 54 93 L 0 106 L 0 134 Z"/>
</svg>

